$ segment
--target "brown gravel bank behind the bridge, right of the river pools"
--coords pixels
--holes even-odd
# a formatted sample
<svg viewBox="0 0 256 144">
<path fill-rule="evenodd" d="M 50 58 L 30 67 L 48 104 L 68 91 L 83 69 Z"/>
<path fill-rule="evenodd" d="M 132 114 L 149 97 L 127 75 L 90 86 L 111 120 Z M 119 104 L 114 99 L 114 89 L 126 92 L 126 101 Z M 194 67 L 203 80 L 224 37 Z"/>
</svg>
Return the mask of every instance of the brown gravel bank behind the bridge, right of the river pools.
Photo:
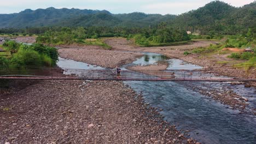
<svg viewBox="0 0 256 144">
<path fill-rule="evenodd" d="M 223 68 L 222 64 L 217 64 L 217 61 L 220 61 L 218 58 L 207 58 L 207 57 L 199 57 L 197 55 L 183 55 L 184 51 L 190 51 L 195 49 L 196 47 L 206 47 L 210 44 L 216 44 L 215 41 L 196 41 L 190 45 L 179 45 L 179 46 L 164 46 L 164 47 L 138 47 L 133 45 L 131 40 L 126 40 L 124 38 L 108 38 L 105 39 L 105 42 L 113 47 L 113 50 L 118 51 L 144 51 L 144 52 L 155 52 L 161 53 L 168 57 L 174 57 L 182 59 L 183 61 L 187 61 L 193 64 L 201 65 L 202 67 L 211 67 L 212 72 L 224 76 L 234 76 L 234 77 L 248 77 L 256 79 L 255 73 L 247 74 L 242 69 L 235 69 L 232 67 Z M 231 59 L 232 60 L 232 59 Z M 255 70 L 254 70 L 255 72 Z M 256 86 L 256 83 L 252 83 L 251 85 Z"/>
</svg>

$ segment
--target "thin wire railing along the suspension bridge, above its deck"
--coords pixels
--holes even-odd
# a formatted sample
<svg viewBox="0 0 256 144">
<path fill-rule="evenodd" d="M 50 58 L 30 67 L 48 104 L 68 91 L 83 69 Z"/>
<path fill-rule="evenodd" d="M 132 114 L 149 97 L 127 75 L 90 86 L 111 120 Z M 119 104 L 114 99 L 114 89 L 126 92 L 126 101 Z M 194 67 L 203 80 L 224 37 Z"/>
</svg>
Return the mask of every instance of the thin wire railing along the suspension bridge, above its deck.
<svg viewBox="0 0 256 144">
<path fill-rule="evenodd" d="M 65 74 L 65 75 L 63 75 Z M 85 70 L 85 69 L 57 69 L 57 68 L 34 68 L 34 69 L 2 69 L 1 77 L 27 76 L 27 77 L 73 77 L 77 79 L 124 79 L 124 80 L 159 80 L 159 79 L 232 79 L 232 77 L 217 76 L 202 70 L 122 70 L 120 77 L 116 70 Z"/>
</svg>

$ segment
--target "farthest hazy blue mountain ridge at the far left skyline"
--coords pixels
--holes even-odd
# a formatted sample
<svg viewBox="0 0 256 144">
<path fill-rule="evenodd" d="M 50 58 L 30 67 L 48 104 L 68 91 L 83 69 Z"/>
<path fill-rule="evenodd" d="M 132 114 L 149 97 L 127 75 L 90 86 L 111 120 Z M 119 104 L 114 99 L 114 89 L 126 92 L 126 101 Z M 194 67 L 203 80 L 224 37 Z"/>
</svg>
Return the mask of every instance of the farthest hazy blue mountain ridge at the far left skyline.
<svg viewBox="0 0 256 144">
<path fill-rule="evenodd" d="M 1 14 L 0 27 L 24 28 L 53 26 L 65 19 L 97 13 L 110 14 L 107 10 L 55 9 L 53 7 L 37 10 L 26 9 L 20 13 Z"/>
</svg>

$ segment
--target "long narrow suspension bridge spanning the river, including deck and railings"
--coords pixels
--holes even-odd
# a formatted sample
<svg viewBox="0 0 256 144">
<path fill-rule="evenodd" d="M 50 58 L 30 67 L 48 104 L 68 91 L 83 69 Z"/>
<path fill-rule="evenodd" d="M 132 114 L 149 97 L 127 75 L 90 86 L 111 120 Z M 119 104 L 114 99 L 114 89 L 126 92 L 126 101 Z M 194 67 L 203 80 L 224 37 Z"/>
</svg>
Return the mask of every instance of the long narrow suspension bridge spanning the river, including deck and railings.
<svg viewBox="0 0 256 144">
<path fill-rule="evenodd" d="M 116 80 L 116 81 L 256 81 L 238 77 L 226 77 L 203 70 L 122 70 L 120 77 L 115 70 L 86 69 L 24 69 L 0 70 L 0 80 Z"/>
</svg>

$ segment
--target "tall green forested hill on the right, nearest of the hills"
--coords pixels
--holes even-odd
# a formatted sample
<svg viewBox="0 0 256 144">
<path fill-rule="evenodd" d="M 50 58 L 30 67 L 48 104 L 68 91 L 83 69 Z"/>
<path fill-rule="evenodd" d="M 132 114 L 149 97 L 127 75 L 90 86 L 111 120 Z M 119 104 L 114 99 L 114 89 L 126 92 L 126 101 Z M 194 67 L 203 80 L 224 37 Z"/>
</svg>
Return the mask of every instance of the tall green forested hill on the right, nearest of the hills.
<svg viewBox="0 0 256 144">
<path fill-rule="evenodd" d="M 214 1 L 205 7 L 177 16 L 171 25 L 203 34 L 210 31 L 221 34 L 247 32 L 248 28 L 255 28 L 256 25 L 256 1 L 240 8 Z"/>
</svg>

